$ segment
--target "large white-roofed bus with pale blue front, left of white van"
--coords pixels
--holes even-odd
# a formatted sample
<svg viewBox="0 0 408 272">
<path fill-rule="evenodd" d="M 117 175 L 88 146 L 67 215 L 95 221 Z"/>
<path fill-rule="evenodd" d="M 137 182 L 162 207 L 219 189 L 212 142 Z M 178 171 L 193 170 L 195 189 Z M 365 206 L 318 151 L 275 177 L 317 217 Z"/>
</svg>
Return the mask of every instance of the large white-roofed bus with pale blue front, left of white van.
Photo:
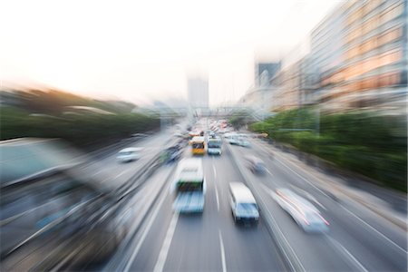
<svg viewBox="0 0 408 272">
<path fill-rule="evenodd" d="M 206 181 L 202 169 L 202 160 L 189 158 L 180 160 L 175 179 L 171 187 L 176 199 L 173 209 L 178 212 L 202 212 Z"/>
</svg>

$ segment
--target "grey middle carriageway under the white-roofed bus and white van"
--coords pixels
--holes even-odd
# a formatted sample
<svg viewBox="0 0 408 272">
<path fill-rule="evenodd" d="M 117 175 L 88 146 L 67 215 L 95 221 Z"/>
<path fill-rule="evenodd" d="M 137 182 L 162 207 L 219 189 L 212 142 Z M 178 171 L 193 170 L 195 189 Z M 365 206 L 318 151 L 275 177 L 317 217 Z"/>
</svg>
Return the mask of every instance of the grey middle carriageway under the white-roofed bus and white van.
<svg viewBox="0 0 408 272">
<path fill-rule="evenodd" d="M 189 148 L 185 155 L 188 157 Z M 282 271 L 287 267 L 262 219 L 236 226 L 228 205 L 228 182 L 243 181 L 228 154 L 203 157 L 208 182 L 202 214 L 172 211 L 169 187 L 135 239 L 125 271 Z M 160 180 L 149 180 L 160 183 Z M 169 185 L 170 180 L 168 180 Z"/>
</svg>

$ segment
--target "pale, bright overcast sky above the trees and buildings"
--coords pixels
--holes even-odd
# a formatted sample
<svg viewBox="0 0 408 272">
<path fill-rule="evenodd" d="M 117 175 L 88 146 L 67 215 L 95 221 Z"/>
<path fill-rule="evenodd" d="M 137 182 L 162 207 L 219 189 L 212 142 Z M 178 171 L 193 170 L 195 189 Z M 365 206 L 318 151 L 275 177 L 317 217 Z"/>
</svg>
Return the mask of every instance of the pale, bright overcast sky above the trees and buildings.
<svg viewBox="0 0 408 272">
<path fill-rule="evenodd" d="M 234 101 L 255 58 L 278 61 L 338 3 L 2 0 L 0 79 L 148 103 L 207 74 L 210 104 Z"/>
</svg>

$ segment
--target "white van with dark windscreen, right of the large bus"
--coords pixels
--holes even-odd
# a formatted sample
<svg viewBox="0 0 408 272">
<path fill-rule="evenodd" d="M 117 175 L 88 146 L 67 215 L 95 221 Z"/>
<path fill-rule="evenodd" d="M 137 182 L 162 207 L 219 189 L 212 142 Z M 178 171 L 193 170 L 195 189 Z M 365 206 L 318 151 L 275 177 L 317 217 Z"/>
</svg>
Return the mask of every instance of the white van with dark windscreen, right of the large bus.
<svg viewBox="0 0 408 272">
<path fill-rule="evenodd" d="M 243 183 L 229 183 L 229 203 L 235 222 L 258 222 L 259 211 L 257 209 L 257 201 Z"/>
</svg>

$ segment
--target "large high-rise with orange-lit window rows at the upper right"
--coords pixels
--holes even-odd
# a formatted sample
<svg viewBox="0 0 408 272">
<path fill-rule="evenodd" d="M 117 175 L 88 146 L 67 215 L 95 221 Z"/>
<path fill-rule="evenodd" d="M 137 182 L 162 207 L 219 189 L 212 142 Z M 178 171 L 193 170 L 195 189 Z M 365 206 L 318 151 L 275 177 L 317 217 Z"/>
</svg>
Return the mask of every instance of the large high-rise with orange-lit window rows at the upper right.
<svg viewBox="0 0 408 272">
<path fill-rule="evenodd" d="M 407 0 L 345 2 L 313 31 L 311 48 L 325 110 L 406 106 Z"/>
</svg>

